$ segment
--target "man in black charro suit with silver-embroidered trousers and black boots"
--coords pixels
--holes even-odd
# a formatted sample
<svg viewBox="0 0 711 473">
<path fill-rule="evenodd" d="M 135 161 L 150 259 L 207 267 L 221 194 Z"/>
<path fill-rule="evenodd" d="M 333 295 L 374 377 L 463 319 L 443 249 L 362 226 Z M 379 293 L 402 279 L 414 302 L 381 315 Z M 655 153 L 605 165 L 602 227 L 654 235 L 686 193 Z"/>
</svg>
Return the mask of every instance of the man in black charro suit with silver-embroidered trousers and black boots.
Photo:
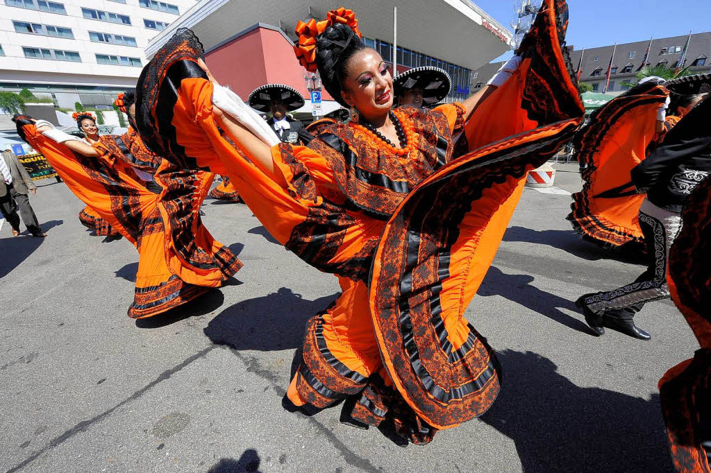
<svg viewBox="0 0 711 473">
<path fill-rule="evenodd" d="M 711 102 L 697 105 L 666 134 L 656 151 L 632 170 L 636 189 L 646 192 L 639 222 L 645 234 L 649 257 L 647 270 L 634 283 L 621 288 L 582 295 L 576 302 L 585 320 L 599 335 L 604 327 L 630 337 L 648 340 L 636 327 L 634 315 L 652 300 L 669 297 L 666 281 L 670 246 L 681 228 L 681 210 L 694 187 L 711 171 L 711 156 L 705 146 Z"/>
</svg>

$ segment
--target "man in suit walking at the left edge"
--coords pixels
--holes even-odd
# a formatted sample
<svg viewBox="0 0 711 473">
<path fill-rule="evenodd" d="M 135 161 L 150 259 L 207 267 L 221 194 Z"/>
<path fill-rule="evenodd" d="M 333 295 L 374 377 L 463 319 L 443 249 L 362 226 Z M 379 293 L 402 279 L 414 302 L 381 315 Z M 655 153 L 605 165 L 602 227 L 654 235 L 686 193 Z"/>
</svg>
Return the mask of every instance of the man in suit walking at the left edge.
<svg viewBox="0 0 711 473">
<path fill-rule="evenodd" d="M 37 216 L 30 206 L 27 193 L 35 194 L 37 187 L 30 175 L 12 151 L 6 149 L 0 155 L 0 210 L 12 227 L 12 234 L 20 234 L 20 217 L 33 237 L 46 237 L 42 232 Z M 20 209 L 17 214 L 14 202 Z"/>
</svg>

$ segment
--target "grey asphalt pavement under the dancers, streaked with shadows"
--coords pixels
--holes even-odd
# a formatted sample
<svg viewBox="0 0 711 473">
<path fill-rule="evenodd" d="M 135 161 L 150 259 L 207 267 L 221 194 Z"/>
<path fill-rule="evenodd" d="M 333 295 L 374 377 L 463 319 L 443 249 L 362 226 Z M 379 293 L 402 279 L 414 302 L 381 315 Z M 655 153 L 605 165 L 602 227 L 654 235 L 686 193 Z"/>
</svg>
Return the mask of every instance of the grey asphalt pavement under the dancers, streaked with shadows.
<svg viewBox="0 0 711 473">
<path fill-rule="evenodd" d="M 137 252 L 102 242 L 54 180 L 31 203 L 46 239 L 0 230 L 0 470 L 7 472 L 668 472 L 657 381 L 697 348 L 669 301 L 636 317 L 650 342 L 593 337 L 573 301 L 638 261 L 582 241 L 560 194 L 526 189 L 467 311 L 498 351 L 488 413 L 400 447 L 282 407 L 304 322 L 336 279 L 279 246 L 240 204 L 205 201 L 210 232 L 245 267 L 230 286 L 148 320 L 126 315 Z M 565 192 L 567 191 L 567 192 Z"/>
</svg>

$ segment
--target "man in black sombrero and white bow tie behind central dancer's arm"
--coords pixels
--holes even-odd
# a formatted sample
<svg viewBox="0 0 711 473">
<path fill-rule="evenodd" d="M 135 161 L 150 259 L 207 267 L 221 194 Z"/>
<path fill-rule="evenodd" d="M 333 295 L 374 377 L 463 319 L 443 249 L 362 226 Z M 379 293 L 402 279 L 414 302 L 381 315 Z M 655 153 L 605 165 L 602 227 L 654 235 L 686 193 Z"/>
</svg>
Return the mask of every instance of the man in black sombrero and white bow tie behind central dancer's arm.
<svg viewBox="0 0 711 473">
<path fill-rule="evenodd" d="M 306 145 L 313 138 L 301 121 L 287 115 L 287 112 L 304 107 L 304 97 L 294 87 L 284 84 L 261 85 L 252 91 L 247 102 L 257 112 L 272 114 L 267 123 L 283 143 Z"/>
</svg>

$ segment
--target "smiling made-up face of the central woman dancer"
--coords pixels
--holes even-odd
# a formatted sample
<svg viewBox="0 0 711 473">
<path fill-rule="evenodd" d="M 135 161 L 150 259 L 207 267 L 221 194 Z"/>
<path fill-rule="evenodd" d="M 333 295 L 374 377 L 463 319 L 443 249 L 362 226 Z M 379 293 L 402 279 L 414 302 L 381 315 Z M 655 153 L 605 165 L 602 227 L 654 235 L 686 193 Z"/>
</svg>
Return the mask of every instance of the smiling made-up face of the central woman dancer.
<svg viewBox="0 0 711 473">
<path fill-rule="evenodd" d="M 392 108 L 392 77 L 377 51 L 366 48 L 351 56 L 343 79 L 343 100 L 368 121 L 376 121 Z"/>
</svg>

